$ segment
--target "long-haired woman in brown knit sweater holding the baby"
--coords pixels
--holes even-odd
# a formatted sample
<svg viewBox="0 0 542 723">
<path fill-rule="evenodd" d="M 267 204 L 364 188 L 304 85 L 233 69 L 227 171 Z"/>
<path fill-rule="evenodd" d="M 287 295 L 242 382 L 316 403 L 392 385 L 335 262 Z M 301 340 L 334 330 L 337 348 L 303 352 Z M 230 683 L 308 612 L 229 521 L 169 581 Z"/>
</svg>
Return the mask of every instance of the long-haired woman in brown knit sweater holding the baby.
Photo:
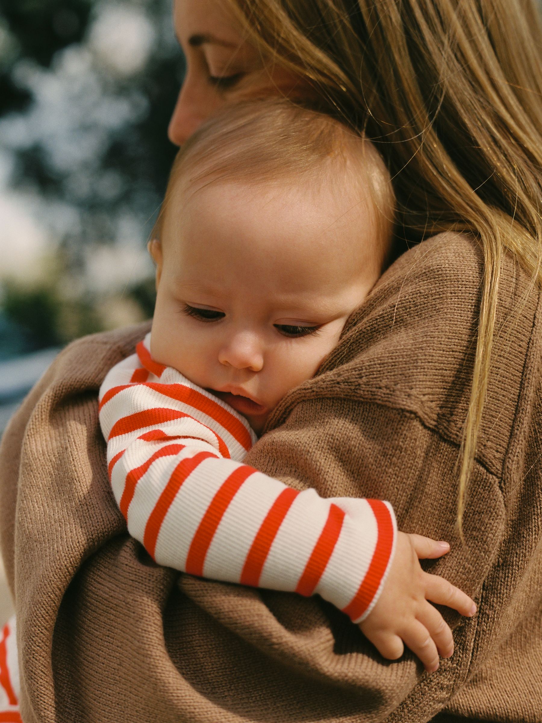
<svg viewBox="0 0 542 723">
<path fill-rule="evenodd" d="M 431 569 L 479 612 L 449 617 L 455 655 L 428 676 L 383 662 L 318 599 L 156 567 L 108 492 L 96 408 L 142 328 L 98 335 L 59 356 L 2 445 L 23 719 L 540 721 L 534 3 L 176 0 L 175 17 L 189 69 L 173 140 L 243 95 L 310 96 L 377 142 L 398 251 L 413 246 L 247 463 L 325 496 L 363 479 L 402 529 L 452 543 Z"/>
</svg>

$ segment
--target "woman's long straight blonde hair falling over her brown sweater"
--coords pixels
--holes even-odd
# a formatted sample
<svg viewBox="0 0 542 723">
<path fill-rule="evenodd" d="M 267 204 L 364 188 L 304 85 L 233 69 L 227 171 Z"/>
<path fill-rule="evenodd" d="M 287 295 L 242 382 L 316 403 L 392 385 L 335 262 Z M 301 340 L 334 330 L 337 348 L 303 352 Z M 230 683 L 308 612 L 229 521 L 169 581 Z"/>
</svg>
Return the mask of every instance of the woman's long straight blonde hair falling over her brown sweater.
<svg viewBox="0 0 542 723">
<path fill-rule="evenodd" d="M 400 234 L 466 231 L 485 258 L 458 524 L 511 252 L 542 283 L 542 40 L 536 0 L 227 0 L 266 61 L 366 132 L 392 174 Z"/>
</svg>

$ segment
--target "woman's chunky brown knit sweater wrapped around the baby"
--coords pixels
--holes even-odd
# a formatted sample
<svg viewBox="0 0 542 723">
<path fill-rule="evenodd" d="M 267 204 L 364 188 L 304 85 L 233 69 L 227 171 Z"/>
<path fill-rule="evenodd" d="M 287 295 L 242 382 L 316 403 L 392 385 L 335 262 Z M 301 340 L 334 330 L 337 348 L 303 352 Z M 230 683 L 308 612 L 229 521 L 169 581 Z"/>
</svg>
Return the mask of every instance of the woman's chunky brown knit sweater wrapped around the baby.
<svg viewBox="0 0 542 723">
<path fill-rule="evenodd" d="M 464 236 L 404 254 L 246 458 L 298 489 L 390 500 L 400 529 L 452 544 L 427 569 L 478 614 L 446 610 L 438 672 L 385 661 L 317 597 L 159 568 L 127 536 L 97 393 L 147 330 L 130 328 L 66 348 L 2 442 L 25 723 L 542 722 L 541 302 L 511 260 L 464 549 L 455 527 L 481 273 Z"/>
</svg>

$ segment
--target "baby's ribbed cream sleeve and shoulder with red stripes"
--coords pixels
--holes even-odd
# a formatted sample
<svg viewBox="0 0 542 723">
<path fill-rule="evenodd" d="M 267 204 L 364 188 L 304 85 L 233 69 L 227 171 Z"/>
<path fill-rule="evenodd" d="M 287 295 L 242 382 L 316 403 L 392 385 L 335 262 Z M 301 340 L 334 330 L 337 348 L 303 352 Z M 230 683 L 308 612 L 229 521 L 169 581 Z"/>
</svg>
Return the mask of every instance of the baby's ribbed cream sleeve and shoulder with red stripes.
<svg viewBox="0 0 542 723">
<path fill-rule="evenodd" d="M 160 565 L 317 593 L 364 620 L 395 548 L 390 503 L 324 499 L 242 463 L 256 441 L 246 419 L 149 347 L 147 335 L 100 388 L 108 474 L 129 533 Z"/>
</svg>

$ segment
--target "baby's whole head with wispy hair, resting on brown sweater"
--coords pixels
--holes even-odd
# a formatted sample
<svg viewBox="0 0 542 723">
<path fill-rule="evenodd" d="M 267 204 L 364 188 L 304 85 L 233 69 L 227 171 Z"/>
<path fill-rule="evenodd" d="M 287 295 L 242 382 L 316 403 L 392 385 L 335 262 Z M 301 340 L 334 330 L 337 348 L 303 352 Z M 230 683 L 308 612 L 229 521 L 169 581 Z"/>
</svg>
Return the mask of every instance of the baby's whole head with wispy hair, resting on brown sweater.
<svg viewBox="0 0 542 723">
<path fill-rule="evenodd" d="M 392 217 L 352 130 L 285 100 L 225 108 L 179 152 L 150 241 L 153 358 L 261 431 L 379 278 Z"/>
</svg>

